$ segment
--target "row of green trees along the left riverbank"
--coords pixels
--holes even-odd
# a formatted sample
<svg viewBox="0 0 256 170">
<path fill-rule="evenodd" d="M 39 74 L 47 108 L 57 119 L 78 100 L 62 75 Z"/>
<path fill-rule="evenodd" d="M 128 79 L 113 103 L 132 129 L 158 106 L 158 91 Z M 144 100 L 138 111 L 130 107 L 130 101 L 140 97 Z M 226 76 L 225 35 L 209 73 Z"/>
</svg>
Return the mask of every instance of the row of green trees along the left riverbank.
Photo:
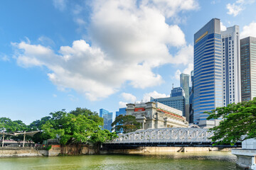
<svg viewBox="0 0 256 170">
<path fill-rule="evenodd" d="M 96 112 L 87 108 L 76 108 L 67 113 L 65 110 L 50 113 L 49 116 L 35 120 L 30 125 L 25 125 L 21 120 L 12 121 L 9 118 L 0 118 L 0 130 L 5 132 L 23 132 L 43 130 L 27 140 L 42 143 L 43 140 L 60 139 L 60 144 L 70 145 L 86 143 L 99 145 L 106 140 L 117 137 L 116 133 L 102 130 L 103 118 Z M 11 136 L 14 140 L 21 140 L 19 136 Z M 23 140 L 23 137 L 22 137 Z"/>
</svg>

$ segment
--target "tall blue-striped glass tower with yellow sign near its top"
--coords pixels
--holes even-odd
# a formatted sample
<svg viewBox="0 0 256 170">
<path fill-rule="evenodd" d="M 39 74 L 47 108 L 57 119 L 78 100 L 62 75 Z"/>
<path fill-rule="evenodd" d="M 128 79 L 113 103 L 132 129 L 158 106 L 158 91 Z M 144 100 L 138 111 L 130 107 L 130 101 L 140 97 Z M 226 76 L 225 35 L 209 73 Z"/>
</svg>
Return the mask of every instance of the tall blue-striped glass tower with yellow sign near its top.
<svg viewBox="0 0 256 170">
<path fill-rule="evenodd" d="M 220 19 L 213 18 L 194 35 L 193 122 L 213 127 L 220 120 L 206 120 L 223 106 L 223 68 Z"/>
</svg>

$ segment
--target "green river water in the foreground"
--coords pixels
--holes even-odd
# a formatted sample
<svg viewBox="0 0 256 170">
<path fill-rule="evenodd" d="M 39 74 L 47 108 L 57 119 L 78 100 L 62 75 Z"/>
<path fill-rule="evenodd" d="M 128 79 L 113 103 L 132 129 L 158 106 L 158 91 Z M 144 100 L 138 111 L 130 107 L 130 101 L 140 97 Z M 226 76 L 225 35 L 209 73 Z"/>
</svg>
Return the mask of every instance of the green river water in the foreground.
<svg viewBox="0 0 256 170">
<path fill-rule="evenodd" d="M 236 169 L 230 152 L 102 154 L 66 157 L 1 158 L 1 170 L 21 169 Z"/>
</svg>

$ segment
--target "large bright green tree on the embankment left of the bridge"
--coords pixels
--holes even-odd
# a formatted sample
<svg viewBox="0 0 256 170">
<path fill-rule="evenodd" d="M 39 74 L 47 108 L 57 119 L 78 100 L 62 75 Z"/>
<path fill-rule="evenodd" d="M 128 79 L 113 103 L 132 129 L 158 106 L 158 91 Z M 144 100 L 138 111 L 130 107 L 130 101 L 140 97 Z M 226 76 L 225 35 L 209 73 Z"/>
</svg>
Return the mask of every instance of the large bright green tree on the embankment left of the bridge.
<svg viewBox="0 0 256 170">
<path fill-rule="evenodd" d="M 97 114 L 90 112 L 87 109 L 78 111 L 77 108 L 70 113 L 65 111 L 50 113 L 50 120 L 42 126 L 43 134 L 50 138 L 58 137 L 62 145 L 80 143 L 98 145 L 117 137 L 108 130 L 101 130 L 100 125 L 103 120 L 97 118 Z"/>
</svg>

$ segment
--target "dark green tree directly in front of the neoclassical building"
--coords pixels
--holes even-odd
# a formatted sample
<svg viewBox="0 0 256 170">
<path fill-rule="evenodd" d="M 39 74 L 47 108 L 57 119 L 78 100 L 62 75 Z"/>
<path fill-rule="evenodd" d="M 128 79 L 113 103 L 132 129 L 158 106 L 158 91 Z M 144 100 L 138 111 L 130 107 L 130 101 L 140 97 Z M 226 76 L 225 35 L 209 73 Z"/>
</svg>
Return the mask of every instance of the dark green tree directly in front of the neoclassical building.
<svg viewBox="0 0 256 170">
<path fill-rule="evenodd" d="M 114 127 L 112 130 L 117 133 L 134 132 L 141 128 L 141 123 L 138 123 L 133 115 L 119 115 L 111 125 Z"/>
</svg>

